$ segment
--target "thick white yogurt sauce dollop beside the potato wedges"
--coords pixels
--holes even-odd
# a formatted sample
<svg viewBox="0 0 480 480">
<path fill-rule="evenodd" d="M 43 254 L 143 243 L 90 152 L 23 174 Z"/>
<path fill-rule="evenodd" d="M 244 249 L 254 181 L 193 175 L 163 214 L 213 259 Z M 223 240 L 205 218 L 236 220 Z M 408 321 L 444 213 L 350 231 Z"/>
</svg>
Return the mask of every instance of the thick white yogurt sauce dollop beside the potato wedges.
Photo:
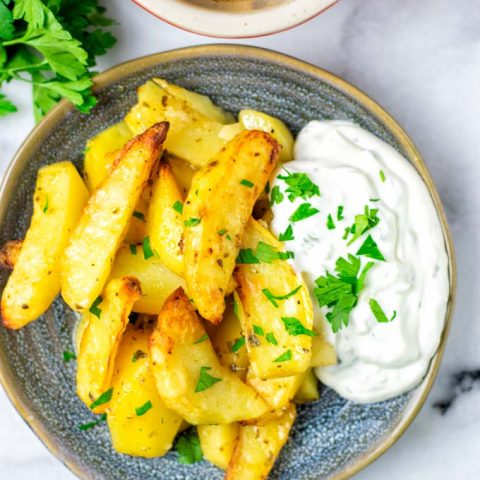
<svg viewBox="0 0 480 480">
<path fill-rule="evenodd" d="M 288 175 L 285 169 L 290 174 L 307 174 L 320 195 L 291 202 L 288 185 L 278 178 Z M 297 138 L 295 160 L 276 172 L 271 188 L 275 186 L 284 198 L 272 206 L 272 231 L 280 235 L 291 225 L 294 239 L 285 241 L 286 249 L 294 253 L 295 268 L 312 294 L 316 326 L 337 352 L 338 364 L 317 368 L 318 378 L 359 403 L 386 400 L 416 386 L 438 348 L 449 294 L 441 224 L 417 171 L 359 126 L 313 121 Z M 318 213 L 292 221 L 291 215 L 302 203 Z M 364 213 L 366 205 L 378 209 L 379 222 L 348 245 L 352 235 L 344 240 L 345 229 Z M 339 207 L 343 207 L 340 215 Z M 357 255 L 368 235 L 385 261 Z M 326 272 L 335 275 L 337 259 L 348 258 L 349 253 L 361 260 L 362 268 L 369 261 L 374 265 L 348 326 L 333 333 L 326 320 L 331 309 L 320 308 L 315 299 L 315 280 Z M 377 320 L 370 299 L 381 306 L 388 322 Z"/>
</svg>

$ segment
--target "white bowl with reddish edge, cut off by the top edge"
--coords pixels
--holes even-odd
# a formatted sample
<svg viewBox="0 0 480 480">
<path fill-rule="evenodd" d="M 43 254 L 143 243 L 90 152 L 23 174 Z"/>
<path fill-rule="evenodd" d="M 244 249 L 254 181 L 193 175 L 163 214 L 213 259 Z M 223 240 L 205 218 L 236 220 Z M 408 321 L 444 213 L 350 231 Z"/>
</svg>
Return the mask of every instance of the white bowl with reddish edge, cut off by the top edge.
<svg viewBox="0 0 480 480">
<path fill-rule="evenodd" d="M 338 0 L 133 0 L 193 33 L 222 38 L 268 35 L 295 27 Z"/>
</svg>

